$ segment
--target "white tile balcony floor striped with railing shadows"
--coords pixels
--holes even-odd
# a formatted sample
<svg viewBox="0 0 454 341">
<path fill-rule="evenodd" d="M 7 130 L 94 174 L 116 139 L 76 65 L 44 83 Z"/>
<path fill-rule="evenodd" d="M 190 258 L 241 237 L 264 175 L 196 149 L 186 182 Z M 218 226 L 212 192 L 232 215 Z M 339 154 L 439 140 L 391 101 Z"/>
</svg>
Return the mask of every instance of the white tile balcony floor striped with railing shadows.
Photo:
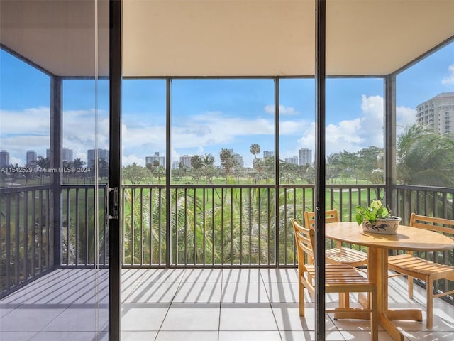
<svg viewBox="0 0 454 341">
<path fill-rule="evenodd" d="M 409 300 L 404 278 L 389 286 L 392 308 L 422 308 L 426 317 L 423 289 Z M 107 292 L 106 270 L 54 271 L 0 301 L 0 340 L 106 341 Z M 314 304 L 298 315 L 296 269 L 125 269 L 122 302 L 123 341 L 314 340 Z M 432 330 L 395 322 L 406 340 L 454 340 L 454 305 L 435 302 Z M 326 330 L 327 340 L 370 337 L 368 321 L 330 314 Z M 379 337 L 391 340 L 384 330 Z"/>
</svg>

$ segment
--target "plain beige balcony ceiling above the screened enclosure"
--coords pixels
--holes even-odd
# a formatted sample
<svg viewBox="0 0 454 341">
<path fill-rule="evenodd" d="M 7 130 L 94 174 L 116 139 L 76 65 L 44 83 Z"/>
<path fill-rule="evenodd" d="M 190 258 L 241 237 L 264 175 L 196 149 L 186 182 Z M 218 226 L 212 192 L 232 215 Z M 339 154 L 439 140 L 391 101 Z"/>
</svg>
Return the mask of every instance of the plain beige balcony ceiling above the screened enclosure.
<svg viewBox="0 0 454 341">
<path fill-rule="evenodd" d="M 99 75 L 109 4 L 98 0 Z M 314 75 L 315 0 L 123 0 L 124 76 Z M 453 38 L 454 0 L 327 0 L 328 75 L 387 75 Z M 0 0 L 0 41 L 55 75 L 96 72 L 94 0 Z"/>
</svg>

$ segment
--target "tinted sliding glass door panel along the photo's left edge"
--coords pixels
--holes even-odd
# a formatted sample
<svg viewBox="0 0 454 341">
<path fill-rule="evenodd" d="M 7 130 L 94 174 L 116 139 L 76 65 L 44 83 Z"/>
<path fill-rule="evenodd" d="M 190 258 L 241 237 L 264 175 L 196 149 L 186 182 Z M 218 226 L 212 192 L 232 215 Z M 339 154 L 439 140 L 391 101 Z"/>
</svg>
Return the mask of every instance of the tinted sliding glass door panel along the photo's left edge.
<svg viewBox="0 0 454 341">
<path fill-rule="evenodd" d="M 1 1 L 1 340 L 107 340 L 109 1 Z"/>
</svg>

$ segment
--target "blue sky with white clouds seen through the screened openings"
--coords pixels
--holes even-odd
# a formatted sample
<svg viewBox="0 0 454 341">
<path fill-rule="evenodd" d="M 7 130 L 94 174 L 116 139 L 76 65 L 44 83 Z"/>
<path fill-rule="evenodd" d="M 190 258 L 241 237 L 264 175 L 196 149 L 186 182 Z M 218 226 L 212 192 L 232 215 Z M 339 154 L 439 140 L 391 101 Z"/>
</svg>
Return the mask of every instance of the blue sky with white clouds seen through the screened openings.
<svg viewBox="0 0 454 341">
<path fill-rule="evenodd" d="M 0 149 L 13 164 L 23 165 L 28 149 L 45 156 L 49 148 L 49 86 L 48 76 L 0 52 Z M 63 144 L 84 161 L 96 144 L 109 148 L 109 84 L 99 80 L 96 89 L 97 100 L 94 80 L 64 82 Z M 414 121 L 416 105 L 441 92 L 454 92 L 454 43 L 398 75 L 399 129 Z M 250 166 L 251 144 L 273 151 L 273 80 L 180 79 L 172 81 L 171 94 L 172 161 L 211 153 L 218 164 L 221 148 L 233 148 Z M 165 80 L 125 80 L 122 100 L 123 164 L 144 166 L 145 156 L 164 156 Z M 314 80 L 281 80 L 279 104 L 280 157 L 301 147 L 314 150 Z M 328 79 L 326 153 L 383 146 L 380 133 L 370 134 L 371 126 L 382 126 L 382 113 L 382 79 Z"/>
</svg>

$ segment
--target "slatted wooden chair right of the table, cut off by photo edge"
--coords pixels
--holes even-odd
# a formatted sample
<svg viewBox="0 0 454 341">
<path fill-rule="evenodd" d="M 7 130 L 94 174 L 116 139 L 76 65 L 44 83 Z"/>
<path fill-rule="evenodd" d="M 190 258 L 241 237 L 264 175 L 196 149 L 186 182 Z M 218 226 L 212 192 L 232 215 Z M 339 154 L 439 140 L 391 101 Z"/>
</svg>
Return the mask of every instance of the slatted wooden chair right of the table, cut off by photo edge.
<svg viewBox="0 0 454 341">
<path fill-rule="evenodd" d="M 426 217 L 411 213 L 410 226 L 419 229 L 430 229 L 435 232 L 454 234 L 454 220 Z M 454 242 L 454 239 L 453 239 Z M 444 293 L 433 293 L 433 281 L 448 279 L 454 281 L 454 266 L 438 264 L 413 255 L 413 252 L 388 257 L 388 267 L 399 274 L 407 275 L 409 279 L 409 298 L 413 298 L 413 278 L 426 282 L 427 321 L 428 329 L 433 326 L 433 298 L 454 293 L 454 290 Z"/>
</svg>

